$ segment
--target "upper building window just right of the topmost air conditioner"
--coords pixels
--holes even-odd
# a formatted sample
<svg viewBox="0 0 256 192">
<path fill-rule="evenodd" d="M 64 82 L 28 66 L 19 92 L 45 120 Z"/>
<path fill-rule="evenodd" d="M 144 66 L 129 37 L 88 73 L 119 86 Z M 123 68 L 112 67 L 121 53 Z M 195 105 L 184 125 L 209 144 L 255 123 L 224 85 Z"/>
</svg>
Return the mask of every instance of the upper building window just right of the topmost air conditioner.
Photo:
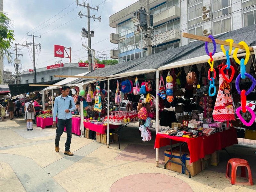
<svg viewBox="0 0 256 192">
<path fill-rule="evenodd" d="M 212 3 L 212 17 L 220 17 L 231 13 L 230 0 L 217 0 Z"/>
</svg>

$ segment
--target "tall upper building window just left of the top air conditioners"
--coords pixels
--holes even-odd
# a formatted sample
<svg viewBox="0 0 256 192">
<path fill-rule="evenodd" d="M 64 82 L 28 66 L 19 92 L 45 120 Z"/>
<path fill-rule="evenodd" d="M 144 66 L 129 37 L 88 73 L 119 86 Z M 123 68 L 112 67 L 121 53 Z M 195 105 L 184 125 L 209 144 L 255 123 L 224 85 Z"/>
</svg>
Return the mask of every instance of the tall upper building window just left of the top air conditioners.
<svg viewBox="0 0 256 192">
<path fill-rule="evenodd" d="M 188 25 L 195 25 L 203 22 L 202 20 L 202 0 L 188 1 Z"/>
</svg>

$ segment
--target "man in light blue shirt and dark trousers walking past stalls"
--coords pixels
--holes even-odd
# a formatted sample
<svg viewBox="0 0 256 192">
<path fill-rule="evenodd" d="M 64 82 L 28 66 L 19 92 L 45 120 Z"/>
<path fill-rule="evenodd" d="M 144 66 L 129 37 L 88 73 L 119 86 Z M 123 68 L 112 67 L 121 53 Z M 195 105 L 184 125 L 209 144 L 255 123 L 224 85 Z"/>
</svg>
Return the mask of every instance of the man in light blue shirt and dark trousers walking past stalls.
<svg viewBox="0 0 256 192">
<path fill-rule="evenodd" d="M 64 127 L 66 126 L 67 131 L 67 140 L 65 144 L 65 155 L 72 156 L 73 153 L 70 152 L 70 143 L 72 137 L 72 115 L 71 111 L 76 109 L 75 102 L 71 96 L 69 96 L 70 87 L 63 86 L 62 94 L 55 98 L 54 106 L 53 106 L 53 126 L 56 126 L 56 115 L 58 113 L 58 126 L 56 129 L 55 136 L 55 151 L 58 153 L 60 151 L 59 143 L 60 136 L 64 131 Z"/>
</svg>

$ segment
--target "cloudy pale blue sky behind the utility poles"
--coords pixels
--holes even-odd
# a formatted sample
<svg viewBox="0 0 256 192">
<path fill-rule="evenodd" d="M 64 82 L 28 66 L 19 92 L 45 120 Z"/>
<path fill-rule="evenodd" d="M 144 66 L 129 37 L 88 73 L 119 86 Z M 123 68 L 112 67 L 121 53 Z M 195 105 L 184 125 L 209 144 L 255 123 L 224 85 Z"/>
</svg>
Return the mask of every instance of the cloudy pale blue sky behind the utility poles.
<svg viewBox="0 0 256 192">
<path fill-rule="evenodd" d="M 90 15 L 96 17 L 101 16 L 99 20 L 91 19 L 91 30 L 94 30 L 94 37 L 91 38 L 92 49 L 98 54 L 107 54 L 107 59 L 110 58 L 110 50 L 117 49 L 117 44 L 109 42 L 110 33 L 116 33 L 115 28 L 109 26 L 109 17 L 114 13 L 124 9 L 125 7 L 135 3 L 138 0 L 86 0 L 85 3 L 90 4 L 90 7 L 99 5 L 98 11 L 90 11 Z M 79 4 L 83 4 L 83 0 L 79 0 Z M 77 6 L 75 0 L 4 0 L 4 12 L 12 20 L 12 30 L 14 30 L 15 43 L 26 44 L 33 42 L 35 35 L 35 43 L 41 44 L 35 49 L 36 52 L 36 68 L 43 68 L 48 65 L 54 65 L 61 58 L 53 56 L 53 45 L 63 45 L 71 47 L 71 61 L 73 63 L 78 60 L 87 60 L 86 50 L 82 43 L 87 44 L 87 38 L 81 37 L 82 28 L 87 28 L 87 17 L 82 17 L 77 14 L 82 11 L 87 14 L 87 8 Z M 26 71 L 33 69 L 33 47 L 18 46 L 18 53 L 23 54 L 19 57 L 21 60 L 22 69 Z M 15 53 L 14 49 L 11 51 Z M 101 55 L 104 56 L 104 55 Z M 15 55 L 12 55 L 13 60 Z M 104 56 L 105 57 L 105 56 Z M 63 63 L 69 62 L 68 58 L 62 58 Z M 14 64 L 8 64 L 4 59 L 4 71 L 9 69 L 13 73 Z"/>
</svg>

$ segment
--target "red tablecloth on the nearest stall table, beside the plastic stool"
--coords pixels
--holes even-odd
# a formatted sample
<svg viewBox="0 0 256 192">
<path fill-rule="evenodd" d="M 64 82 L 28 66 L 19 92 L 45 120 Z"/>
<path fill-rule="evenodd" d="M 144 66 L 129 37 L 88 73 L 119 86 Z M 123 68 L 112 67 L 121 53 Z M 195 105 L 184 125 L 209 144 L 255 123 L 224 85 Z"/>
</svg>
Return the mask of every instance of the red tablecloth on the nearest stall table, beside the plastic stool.
<svg viewBox="0 0 256 192">
<path fill-rule="evenodd" d="M 205 155 L 214 153 L 216 150 L 237 144 L 236 128 L 230 127 L 226 131 L 214 133 L 209 137 L 204 135 L 203 137 L 191 139 L 157 133 L 155 148 L 170 145 L 170 139 L 172 140 L 172 144 L 178 143 L 179 141 L 188 144 L 190 163 L 196 162 L 198 159 L 204 158 Z"/>
</svg>

